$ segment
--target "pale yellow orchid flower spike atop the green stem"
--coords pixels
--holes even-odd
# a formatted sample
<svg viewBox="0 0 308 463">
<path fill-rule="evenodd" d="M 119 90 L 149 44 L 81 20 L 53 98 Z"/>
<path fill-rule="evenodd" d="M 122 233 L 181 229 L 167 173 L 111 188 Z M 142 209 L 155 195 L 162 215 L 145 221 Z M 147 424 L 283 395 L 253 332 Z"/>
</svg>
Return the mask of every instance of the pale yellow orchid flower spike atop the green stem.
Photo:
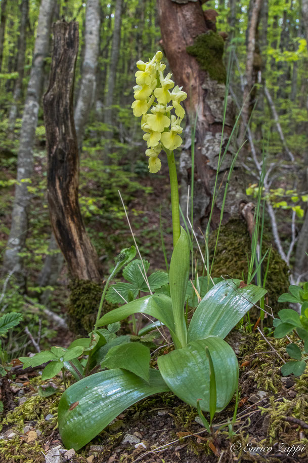
<svg viewBox="0 0 308 463">
<path fill-rule="evenodd" d="M 146 155 L 149 157 L 149 171 L 153 174 L 161 169 L 158 158 L 160 151 L 173 151 L 182 144 L 179 134 L 183 131 L 181 122 L 185 110 L 180 103 L 187 98 L 182 87 L 174 87 L 172 74 L 164 77 L 166 66 L 161 62 L 162 57 L 162 52 L 158 51 L 151 61 L 137 61 L 139 70 L 135 74 L 135 101 L 131 104 L 134 115 L 138 118 L 142 116 L 141 128 L 146 132 L 143 139 L 148 145 Z"/>
</svg>

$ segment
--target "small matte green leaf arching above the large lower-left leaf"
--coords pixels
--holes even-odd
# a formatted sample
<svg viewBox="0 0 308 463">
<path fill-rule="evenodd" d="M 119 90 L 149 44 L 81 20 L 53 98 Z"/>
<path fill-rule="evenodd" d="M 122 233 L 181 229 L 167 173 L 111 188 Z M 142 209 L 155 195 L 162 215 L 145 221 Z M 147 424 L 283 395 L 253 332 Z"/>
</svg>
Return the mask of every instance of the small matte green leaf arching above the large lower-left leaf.
<svg viewBox="0 0 308 463">
<path fill-rule="evenodd" d="M 111 348 L 102 366 L 123 368 L 149 382 L 150 350 L 139 342 L 128 342 Z"/>
</svg>

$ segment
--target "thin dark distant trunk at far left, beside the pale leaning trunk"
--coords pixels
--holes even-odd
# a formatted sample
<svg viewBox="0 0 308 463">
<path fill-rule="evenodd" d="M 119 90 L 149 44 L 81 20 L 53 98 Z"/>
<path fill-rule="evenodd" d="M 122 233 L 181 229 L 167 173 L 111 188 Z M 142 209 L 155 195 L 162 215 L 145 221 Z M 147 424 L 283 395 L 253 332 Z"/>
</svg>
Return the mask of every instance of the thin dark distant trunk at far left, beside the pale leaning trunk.
<svg viewBox="0 0 308 463">
<path fill-rule="evenodd" d="M 26 25 L 28 20 L 29 0 L 22 0 L 21 3 L 21 18 L 20 18 L 20 33 L 19 33 L 19 47 L 17 52 L 17 72 L 18 78 L 15 81 L 13 104 L 10 108 L 9 114 L 9 128 L 13 132 L 15 128 L 15 121 L 17 118 L 18 103 L 21 97 L 22 80 L 24 77 L 25 68 L 25 53 L 26 53 Z"/>
</svg>

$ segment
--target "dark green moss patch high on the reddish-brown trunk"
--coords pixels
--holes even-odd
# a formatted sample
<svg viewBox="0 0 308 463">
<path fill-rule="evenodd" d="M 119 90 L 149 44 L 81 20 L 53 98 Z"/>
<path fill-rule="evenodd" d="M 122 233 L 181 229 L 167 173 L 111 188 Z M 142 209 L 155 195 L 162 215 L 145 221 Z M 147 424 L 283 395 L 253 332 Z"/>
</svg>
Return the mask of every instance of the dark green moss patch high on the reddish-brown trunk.
<svg viewBox="0 0 308 463">
<path fill-rule="evenodd" d="M 197 36 L 194 45 L 187 47 L 187 53 L 194 56 L 201 68 L 208 72 L 210 78 L 218 84 L 226 83 L 226 68 L 223 63 L 224 39 L 217 32 L 210 30 Z"/>
</svg>

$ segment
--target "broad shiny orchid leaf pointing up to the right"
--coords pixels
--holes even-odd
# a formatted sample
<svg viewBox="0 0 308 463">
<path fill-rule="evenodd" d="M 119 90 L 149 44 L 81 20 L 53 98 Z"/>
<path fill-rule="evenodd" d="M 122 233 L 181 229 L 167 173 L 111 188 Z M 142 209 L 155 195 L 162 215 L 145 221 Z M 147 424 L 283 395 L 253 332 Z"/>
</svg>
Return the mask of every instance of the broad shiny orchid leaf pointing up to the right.
<svg viewBox="0 0 308 463">
<path fill-rule="evenodd" d="M 188 329 L 188 341 L 212 334 L 226 337 L 253 304 L 266 294 L 259 286 L 240 288 L 241 280 L 217 283 L 196 308 Z"/>
</svg>

